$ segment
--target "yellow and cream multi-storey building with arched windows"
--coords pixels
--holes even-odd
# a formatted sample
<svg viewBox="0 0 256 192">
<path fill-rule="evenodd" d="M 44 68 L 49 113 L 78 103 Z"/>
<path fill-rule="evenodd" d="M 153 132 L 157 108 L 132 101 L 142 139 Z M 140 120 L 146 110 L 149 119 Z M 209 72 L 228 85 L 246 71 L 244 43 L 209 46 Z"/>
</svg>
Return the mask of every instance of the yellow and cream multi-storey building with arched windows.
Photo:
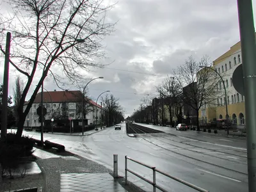
<svg viewBox="0 0 256 192">
<path fill-rule="evenodd" d="M 255 33 L 256 35 L 256 33 Z M 213 67 L 223 78 L 225 88 L 227 90 L 227 108 L 228 118 L 232 122 L 232 127 L 244 128 L 245 109 L 244 96 L 237 93 L 233 86 L 232 75 L 234 70 L 242 64 L 241 43 L 230 47 L 230 49 L 222 54 L 219 58 L 213 61 Z M 243 81 L 243 79 L 241 79 Z M 207 122 L 212 122 L 214 119 L 225 119 L 226 115 L 226 100 L 223 82 L 220 81 L 216 85 L 216 89 L 220 94 L 216 98 L 216 103 L 206 104 L 200 110 L 200 118 Z"/>
</svg>

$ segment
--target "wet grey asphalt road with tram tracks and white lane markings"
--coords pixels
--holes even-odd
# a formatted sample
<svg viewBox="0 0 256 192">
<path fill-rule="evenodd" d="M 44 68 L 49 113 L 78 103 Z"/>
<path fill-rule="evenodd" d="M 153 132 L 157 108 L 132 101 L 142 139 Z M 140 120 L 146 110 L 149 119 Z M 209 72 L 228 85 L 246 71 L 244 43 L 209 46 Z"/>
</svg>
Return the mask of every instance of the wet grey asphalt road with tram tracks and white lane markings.
<svg viewBox="0 0 256 192">
<path fill-rule="evenodd" d="M 61 143 L 70 152 L 88 157 L 113 168 L 113 154 L 118 154 L 118 171 L 124 175 L 124 156 L 156 166 L 174 177 L 209 191 L 248 191 L 246 141 L 206 132 L 176 131 L 171 127 L 147 125 L 166 133 L 141 134 L 136 138 L 109 127 L 90 136 L 44 134 L 45 140 Z M 40 133 L 24 132 L 34 138 Z M 128 161 L 128 168 L 152 180 L 152 170 Z M 130 180 L 152 187 L 129 173 Z M 167 191 L 195 191 L 157 173 L 156 182 Z"/>
</svg>

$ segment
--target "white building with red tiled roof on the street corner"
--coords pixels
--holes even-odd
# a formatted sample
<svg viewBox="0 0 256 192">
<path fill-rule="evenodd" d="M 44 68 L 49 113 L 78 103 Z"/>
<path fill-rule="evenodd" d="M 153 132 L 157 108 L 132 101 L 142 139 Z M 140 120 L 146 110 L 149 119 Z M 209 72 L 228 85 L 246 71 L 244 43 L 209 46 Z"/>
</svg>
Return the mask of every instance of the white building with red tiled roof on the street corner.
<svg viewBox="0 0 256 192">
<path fill-rule="evenodd" d="M 26 116 L 26 122 L 24 127 L 40 127 L 39 116 L 36 110 L 41 104 L 41 94 L 37 93 L 36 99 L 31 106 L 28 115 Z M 45 122 L 53 120 L 53 123 L 57 123 L 58 120 L 72 119 L 72 127 L 76 125 L 82 125 L 82 93 L 80 91 L 56 91 L 43 92 L 43 104 L 47 109 L 45 115 Z M 28 102 L 24 104 L 24 110 L 26 109 Z M 96 115 L 97 113 L 97 115 Z M 101 121 L 101 106 L 96 104 L 93 100 L 84 98 L 84 125 L 97 124 Z"/>
</svg>

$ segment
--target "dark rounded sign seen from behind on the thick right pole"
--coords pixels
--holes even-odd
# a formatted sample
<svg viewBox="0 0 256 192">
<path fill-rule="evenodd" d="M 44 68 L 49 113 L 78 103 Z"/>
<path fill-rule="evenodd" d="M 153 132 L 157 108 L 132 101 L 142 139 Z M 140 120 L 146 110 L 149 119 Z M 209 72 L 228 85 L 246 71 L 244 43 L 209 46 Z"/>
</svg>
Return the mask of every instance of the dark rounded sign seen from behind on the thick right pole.
<svg viewBox="0 0 256 192">
<path fill-rule="evenodd" d="M 235 90 L 244 95 L 244 75 L 243 75 L 243 64 L 239 65 L 233 73 L 232 81 Z"/>
</svg>

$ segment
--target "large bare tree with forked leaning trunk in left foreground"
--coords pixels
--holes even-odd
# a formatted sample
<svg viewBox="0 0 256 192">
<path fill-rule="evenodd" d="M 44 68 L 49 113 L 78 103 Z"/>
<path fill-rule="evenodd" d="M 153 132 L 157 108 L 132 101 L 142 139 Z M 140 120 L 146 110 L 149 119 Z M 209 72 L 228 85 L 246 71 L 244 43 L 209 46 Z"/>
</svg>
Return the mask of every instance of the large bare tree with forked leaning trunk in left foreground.
<svg viewBox="0 0 256 192">
<path fill-rule="evenodd" d="M 106 22 L 106 12 L 113 6 L 104 5 L 102 0 L 10 0 L 8 3 L 12 4 L 15 15 L 15 25 L 10 23 L 4 28 L 12 33 L 10 63 L 27 78 L 17 109 L 19 139 L 45 77 L 50 73 L 57 84 L 61 82 L 51 67 L 59 67 L 70 82 L 82 81 L 83 70 L 102 66 L 96 61 L 104 57 L 102 39 L 111 34 L 115 24 Z M 0 49 L 4 54 L 1 44 Z M 32 82 L 36 87 L 23 109 Z"/>
</svg>

